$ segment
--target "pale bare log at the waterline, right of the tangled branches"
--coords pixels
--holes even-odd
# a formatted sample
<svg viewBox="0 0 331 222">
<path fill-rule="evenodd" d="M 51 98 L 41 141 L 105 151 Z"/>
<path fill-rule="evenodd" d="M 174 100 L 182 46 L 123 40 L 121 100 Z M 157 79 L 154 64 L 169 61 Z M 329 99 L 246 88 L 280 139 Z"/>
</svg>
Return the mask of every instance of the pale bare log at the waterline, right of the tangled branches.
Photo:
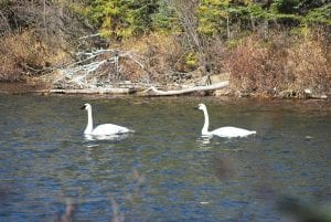
<svg viewBox="0 0 331 222">
<path fill-rule="evenodd" d="M 213 85 L 206 85 L 206 86 L 193 86 L 190 88 L 182 88 L 178 91 L 159 91 L 154 86 L 151 86 L 142 92 L 142 94 L 147 95 L 154 95 L 154 96 L 173 96 L 173 95 L 181 95 L 181 94 L 189 94 L 194 92 L 203 92 L 203 91 L 215 91 L 220 88 L 224 88 L 228 86 L 228 81 L 224 81 L 221 83 L 216 83 Z"/>
</svg>

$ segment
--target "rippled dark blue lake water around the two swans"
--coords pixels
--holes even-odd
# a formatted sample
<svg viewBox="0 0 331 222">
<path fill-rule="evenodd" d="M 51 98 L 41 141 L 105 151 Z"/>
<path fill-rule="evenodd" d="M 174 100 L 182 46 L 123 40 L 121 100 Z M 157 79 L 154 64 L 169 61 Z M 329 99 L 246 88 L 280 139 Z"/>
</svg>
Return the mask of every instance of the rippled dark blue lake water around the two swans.
<svg viewBox="0 0 331 222">
<path fill-rule="evenodd" d="M 135 134 L 86 140 L 95 125 Z M 242 139 L 200 136 L 256 130 Z M 331 200 L 327 102 L 0 95 L 0 221 L 288 221 L 284 195 Z"/>
</svg>

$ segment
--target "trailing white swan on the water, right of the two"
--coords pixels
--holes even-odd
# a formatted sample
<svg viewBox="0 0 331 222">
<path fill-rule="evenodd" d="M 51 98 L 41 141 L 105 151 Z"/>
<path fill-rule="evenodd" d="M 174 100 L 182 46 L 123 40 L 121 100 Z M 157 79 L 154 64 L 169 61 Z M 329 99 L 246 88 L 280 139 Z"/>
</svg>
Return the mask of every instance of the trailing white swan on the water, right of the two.
<svg viewBox="0 0 331 222">
<path fill-rule="evenodd" d="M 213 131 L 209 131 L 210 118 L 206 106 L 204 104 L 199 104 L 196 109 L 203 110 L 204 114 L 204 125 L 201 130 L 202 136 L 218 136 L 218 137 L 246 137 L 248 135 L 256 134 L 256 131 L 249 131 L 247 129 L 236 128 L 232 126 L 221 127 Z"/>
</svg>

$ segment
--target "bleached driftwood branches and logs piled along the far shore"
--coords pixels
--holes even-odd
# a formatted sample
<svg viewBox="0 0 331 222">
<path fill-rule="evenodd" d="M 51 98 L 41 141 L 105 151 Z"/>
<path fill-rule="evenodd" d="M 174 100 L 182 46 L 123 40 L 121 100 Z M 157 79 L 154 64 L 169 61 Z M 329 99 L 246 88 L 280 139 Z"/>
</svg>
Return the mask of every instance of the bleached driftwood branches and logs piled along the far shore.
<svg viewBox="0 0 331 222">
<path fill-rule="evenodd" d="M 57 70 L 57 77 L 53 81 L 51 93 L 67 94 L 129 94 L 136 93 L 146 96 L 172 96 L 194 92 L 214 91 L 226 87 L 227 81 L 213 85 L 197 85 L 175 91 L 159 91 L 147 81 L 131 83 L 125 78 L 122 72 L 124 60 L 130 60 L 141 72 L 145 65 L 131 52 L 99 49 L 75 54 L 76 62 Z M 148 73 L 148 72 L 146 72 Z M 181 76 L 180 76 L 181 77 Z M 146 89 L 147 88 L 147 89 Z"/>
</svg>

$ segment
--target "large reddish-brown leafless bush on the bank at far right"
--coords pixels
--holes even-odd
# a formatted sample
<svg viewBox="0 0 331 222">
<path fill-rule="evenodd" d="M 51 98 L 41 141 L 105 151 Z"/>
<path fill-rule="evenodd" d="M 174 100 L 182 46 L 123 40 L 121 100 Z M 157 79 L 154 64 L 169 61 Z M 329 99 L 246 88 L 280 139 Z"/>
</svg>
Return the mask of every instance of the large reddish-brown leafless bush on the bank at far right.
<svg viewBox="0 0 331 222">
<path fill-rule="evenodd" d="M 305 89 L 331 93 L 330 53 L 321 34 L 306 36 L 275 34 L 268 42 L 246 38 L 225 60 L 234 87 L 257 95 Z"/>
</svg>

